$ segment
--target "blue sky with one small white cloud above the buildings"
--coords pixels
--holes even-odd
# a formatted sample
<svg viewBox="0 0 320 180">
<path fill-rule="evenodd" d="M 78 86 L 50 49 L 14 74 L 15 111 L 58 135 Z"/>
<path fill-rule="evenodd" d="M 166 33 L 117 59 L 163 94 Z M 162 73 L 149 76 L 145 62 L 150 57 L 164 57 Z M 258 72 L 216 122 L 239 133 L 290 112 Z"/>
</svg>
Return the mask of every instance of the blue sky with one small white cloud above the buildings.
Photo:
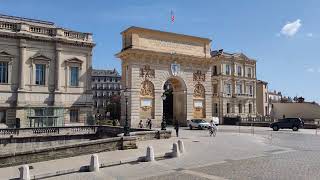
<svg viewBox="0 0 320 180">
<path fill-rule="evenodd" d="M 170 22 L 170 11 L 175 23 Z M 320 102 L 320 1 L 317 0 L 0 0 L 0 13 L 92 32 L 94 68 L 116 68 L 120 32 L 141 26 L 212 39 L 212 49 L 257 60 L 269 89 Z"/>
</svg>

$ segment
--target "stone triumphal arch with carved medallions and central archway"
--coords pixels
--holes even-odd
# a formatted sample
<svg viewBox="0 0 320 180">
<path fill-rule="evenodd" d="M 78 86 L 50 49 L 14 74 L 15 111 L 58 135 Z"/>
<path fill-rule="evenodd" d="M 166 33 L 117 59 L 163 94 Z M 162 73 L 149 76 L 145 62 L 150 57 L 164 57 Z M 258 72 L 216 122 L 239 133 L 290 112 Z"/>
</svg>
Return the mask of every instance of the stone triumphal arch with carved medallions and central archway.
<svg viewBox="0 0 320 180">
<path fill-rule="evenodd" d="M 151 118 L 160 126 L 212 117 L 210 39 L 130 27 L 122 33 L 122 87 L 129 91 L 127 111 L 132 127 Z M 161 96 L 166 94 L 166 100 Z M 122 97 L 122 122 L 125 101 Z"/>
</svg>

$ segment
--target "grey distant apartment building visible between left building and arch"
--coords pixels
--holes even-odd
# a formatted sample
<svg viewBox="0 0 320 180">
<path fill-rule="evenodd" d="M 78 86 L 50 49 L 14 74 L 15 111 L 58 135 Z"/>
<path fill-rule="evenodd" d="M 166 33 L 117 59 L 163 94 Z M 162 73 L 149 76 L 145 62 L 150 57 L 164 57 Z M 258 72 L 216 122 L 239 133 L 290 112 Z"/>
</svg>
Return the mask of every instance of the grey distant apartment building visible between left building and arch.
<svg viewBox="0 0 320 180">
<path fill-rule="evenodd" d="M 96 119 L 119 119 L 121 76 L 114 70 L 92 70 L 93 113 Z"/>
</svg>

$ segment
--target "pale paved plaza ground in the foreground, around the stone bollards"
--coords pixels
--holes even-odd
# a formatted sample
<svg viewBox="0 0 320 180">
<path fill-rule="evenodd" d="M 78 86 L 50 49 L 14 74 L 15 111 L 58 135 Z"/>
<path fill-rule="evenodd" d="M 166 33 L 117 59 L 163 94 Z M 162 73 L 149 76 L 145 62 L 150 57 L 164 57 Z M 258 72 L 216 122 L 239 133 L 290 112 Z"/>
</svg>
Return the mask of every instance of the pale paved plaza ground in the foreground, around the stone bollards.
<svg viewBox="0 0 320 180">
<path fill-rule="evenodd" d="M 220 126 L 218 135 L 206 130 L 183 129 L 180 137 L 138 143 L 138 149 L 99 153 L 100 161 L 137 159 L 146 147 L 156 155 L 171 151 L 182 140 L 186 153 L 179 158 L 136 162 L 47 179 L 318 179 L 320 177 L 320 135 L 316 130 L 299 132 L 269 128 Z M 90 155 L 31 164 L 31 175 L 89 164 Z M 2 179 L 18 177 L 18 167 L 0 169 Z"/>
</svg>

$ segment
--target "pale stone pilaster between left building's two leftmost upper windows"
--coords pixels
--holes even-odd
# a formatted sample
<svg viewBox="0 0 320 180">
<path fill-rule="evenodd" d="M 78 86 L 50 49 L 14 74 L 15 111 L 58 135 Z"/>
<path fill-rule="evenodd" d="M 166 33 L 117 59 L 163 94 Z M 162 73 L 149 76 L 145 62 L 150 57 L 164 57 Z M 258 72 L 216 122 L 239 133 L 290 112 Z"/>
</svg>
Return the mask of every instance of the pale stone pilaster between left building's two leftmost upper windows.
<svg viewBox="0 0 320 180">
<path fill-rule="evenodd" d="M 24 90 L 25 89 L 25 67 L 24 64 L 26 62 L 26 52 L 27 52 L 27 45 L 26 45 L 25 39 L 20 39 L 20 59 L 19 59 L 19 89 Z"/>
</svg>

